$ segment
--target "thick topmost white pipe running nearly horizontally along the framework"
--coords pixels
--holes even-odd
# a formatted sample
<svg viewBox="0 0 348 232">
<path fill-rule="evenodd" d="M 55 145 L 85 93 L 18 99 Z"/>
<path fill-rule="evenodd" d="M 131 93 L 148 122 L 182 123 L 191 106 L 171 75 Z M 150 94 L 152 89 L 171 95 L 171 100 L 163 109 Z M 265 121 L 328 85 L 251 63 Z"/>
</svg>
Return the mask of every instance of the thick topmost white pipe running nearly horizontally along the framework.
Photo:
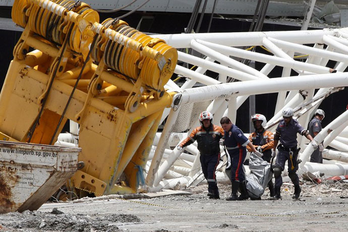
<svg viewBox="0 0 348 232">
<path fill-rule="evenodd" d="M 150 35 L 160 38 L 170 46 L 176 48 L 190 47 L 192 39 L 201 39 L 207 42 L 218 43 L 226 46 L 262 45 L 262 38 L 271 37 L 293 43 L 310 44 L 323 43 L 323 35 L 335 35 L 340 31 L 335 30 L 309 30 L 309 31 L 267 31 L 267 32 L 228 32 L 228 33 L 190 33 L 190 34 L 157 34 Z"/>
</svg>

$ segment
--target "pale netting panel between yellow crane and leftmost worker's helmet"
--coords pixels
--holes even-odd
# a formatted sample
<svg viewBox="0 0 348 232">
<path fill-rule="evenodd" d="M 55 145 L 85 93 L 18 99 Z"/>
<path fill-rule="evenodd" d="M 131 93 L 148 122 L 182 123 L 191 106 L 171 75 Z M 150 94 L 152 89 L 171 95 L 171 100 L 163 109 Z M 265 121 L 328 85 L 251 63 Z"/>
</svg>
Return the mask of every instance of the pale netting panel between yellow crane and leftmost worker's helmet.
<svg viewBox="0 0 348 232">
<path fill-rule="evenodd" d="M 207 109 L 210 102 L 200 101 L 182 105 L 171 132 L 184 132 L 190 129 L 197 122 L 199 114 Z"/>
</svg>

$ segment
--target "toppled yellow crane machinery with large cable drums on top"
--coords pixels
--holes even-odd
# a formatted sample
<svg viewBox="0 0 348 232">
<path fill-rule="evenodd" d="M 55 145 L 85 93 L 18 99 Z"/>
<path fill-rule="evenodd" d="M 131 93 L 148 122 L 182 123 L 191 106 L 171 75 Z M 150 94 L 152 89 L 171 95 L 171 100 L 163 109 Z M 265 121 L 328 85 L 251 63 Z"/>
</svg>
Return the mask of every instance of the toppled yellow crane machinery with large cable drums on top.
<svg viewBox="0 0 348 232">
<path fill-rule="evenodd" d="M 80 125 L 79 197 L 138 191 L 165 107 L 177 50 L 118 19 L 99 23 L 89 5 L 15 0 L 24 28 L 0 94 L 5 140 L 52 144 L 66 121 Z M 121 184 L 120 184 L 121 183 Z"/>
</svg>

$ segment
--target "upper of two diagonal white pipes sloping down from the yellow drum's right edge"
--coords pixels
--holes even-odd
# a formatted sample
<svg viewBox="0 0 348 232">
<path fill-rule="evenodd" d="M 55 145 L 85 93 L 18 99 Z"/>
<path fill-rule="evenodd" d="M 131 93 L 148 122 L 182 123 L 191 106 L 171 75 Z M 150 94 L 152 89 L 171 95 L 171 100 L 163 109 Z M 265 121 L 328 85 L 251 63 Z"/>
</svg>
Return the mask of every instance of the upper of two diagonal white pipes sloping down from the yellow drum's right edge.
<svg viewBox="0 0 348 232">
<path fill-rule="evenodd" d="M 192 64 L 192 65 L 202 67 L 204 69 L 209 69 L 211 71 L 214 71 L 214 72 L 222 74 L 222 75 L 233 77 L 233 78 L 240 80 L 240 81 L 250 81 L 250 80 L 259 80 L 260 79 L 254 75 L 250 75 L 250 74 L 241 72 L 239 70 L 234 70 L 234 69 L 231 69 L 227 66 L 219 65 L 219 64 L 216 64 L 214 62 L 207 61 L 207 60 L 201 59 L 197 56 L 189 55 L 189 54 L 186 54 L 186 53 L 181 52 L 181 51 L 178 51 L 178 60 Z M 224 80 L 224 82 L 226 82 L 226 79 Z"/>
</svg>

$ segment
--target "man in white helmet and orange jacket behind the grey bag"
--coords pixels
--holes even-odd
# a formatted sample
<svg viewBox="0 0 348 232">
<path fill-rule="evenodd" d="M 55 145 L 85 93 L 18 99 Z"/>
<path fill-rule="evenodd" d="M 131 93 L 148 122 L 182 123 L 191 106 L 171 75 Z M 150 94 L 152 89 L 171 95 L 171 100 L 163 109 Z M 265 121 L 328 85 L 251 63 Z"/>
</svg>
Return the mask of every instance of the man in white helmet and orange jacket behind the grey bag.
<svg viewBox="0 0 348 232">
<path fill-rule="evenodd" d="M 266 117 L 260 113 L 251 115 L 251 121 L 254 124 L 255 132 L 249 135 L 249 140 L 253 143 L 254 147 L 263 154 L 262 159 L 271 162 L 272 158 L 272 148 L 274 146 L 274 136 L 270 131 L 266 131 L 265 127 L 267 125 Z M 252 149 L 247 146 L 248 151 Z M 268 189 L 270 197 L 274 197 L 274 185 L 272 180 L 268 183 Z"/>
</svg>

